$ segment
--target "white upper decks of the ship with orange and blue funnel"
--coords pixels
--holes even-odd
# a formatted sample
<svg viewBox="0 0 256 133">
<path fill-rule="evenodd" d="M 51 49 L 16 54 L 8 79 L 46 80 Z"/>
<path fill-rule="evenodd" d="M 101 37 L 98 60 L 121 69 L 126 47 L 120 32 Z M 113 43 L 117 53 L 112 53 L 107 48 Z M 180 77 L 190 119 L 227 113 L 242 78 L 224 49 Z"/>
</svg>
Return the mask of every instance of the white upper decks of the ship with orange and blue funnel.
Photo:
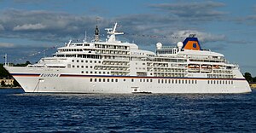
<svg viewBox="0 0 256 133">
<path fill-rule="evenodd" d="M 116 25 L 115 25 L 116 26 Z M 232 70 L 238 68 L 228 63 L 224 55 L 201 49 L 195 35 L 177 46 L 156 44 L 156 52 L 139 49 L 136 43 L 122 43 L 115 36 L 115 28 L 108 28 L 108 39 L 91 42 L 69 41 L 58 48 L 54 57 L 42 58 L 29 67 L 72 68 L 71 72 L 110 75 L 155 77 L 189 77 L 201 74 L 203 78 L 232 78 Z"/>
</svg>

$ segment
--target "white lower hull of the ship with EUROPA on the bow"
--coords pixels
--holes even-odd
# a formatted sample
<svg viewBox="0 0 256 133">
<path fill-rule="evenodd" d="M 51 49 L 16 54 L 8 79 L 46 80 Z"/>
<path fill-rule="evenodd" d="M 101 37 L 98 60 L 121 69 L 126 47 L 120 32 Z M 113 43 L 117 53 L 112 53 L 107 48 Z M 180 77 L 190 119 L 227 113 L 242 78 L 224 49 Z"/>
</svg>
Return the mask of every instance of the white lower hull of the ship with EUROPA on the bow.
<svg viewBox="0 0 256 133">
<path fill-rule="evenodd" d="M 57 69 L 5 67 L 25 92 L 47 93 L 247 93 L 243 78 L 166 78 L 68 74 Z M 28 70 L 31 69 L 31 70 Z M 47 74 L 50 73 L 50 74 Z M 99 82 L 101 80 L 101 82 Z M 132 82 L 133 81 L 133 82 Z M 193 83 L 192 83 L 193 81 Z M 212 84 L 211 84 L 212 82 Z M 217 84 L 218 82 L 218 84 Z M 215 84 L 213 84 L 215 83 Z"/>
</svg>

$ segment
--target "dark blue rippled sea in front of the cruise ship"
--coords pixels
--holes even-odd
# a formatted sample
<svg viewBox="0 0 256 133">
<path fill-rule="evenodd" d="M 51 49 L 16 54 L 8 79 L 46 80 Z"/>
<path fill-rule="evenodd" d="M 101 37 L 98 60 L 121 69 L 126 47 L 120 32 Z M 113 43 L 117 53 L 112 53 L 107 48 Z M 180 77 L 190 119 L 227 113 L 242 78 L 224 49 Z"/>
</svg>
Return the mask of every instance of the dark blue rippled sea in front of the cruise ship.
<svg viewBox="0 0 256 133">
<path fill-rule="evenodd" d="M 255 132 L 256 90 L 228 95 L 0 90 L 0 132 Z"/>
</svg>

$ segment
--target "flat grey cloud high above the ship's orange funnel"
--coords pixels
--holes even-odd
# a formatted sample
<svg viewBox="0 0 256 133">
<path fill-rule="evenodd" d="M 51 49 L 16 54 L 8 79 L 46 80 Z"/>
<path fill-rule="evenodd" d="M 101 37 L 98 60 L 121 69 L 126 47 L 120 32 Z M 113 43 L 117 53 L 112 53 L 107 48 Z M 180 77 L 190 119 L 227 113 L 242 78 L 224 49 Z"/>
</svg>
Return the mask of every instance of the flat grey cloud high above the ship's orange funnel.
<svg viewBox="0 0 256 133">
<path fill-rule="evenodd" d="M 149 7 L 165 11 L 169 17 L 178 17 L 182 20 L 220 20 L 223 19 L 223 11 L 216 10 L 224 7 L 224 3 L 198 2 L 198 3 L 160 3 L 151 4 Z M 192 23 L 193 21 L 191 21 Z"/>
</svg>

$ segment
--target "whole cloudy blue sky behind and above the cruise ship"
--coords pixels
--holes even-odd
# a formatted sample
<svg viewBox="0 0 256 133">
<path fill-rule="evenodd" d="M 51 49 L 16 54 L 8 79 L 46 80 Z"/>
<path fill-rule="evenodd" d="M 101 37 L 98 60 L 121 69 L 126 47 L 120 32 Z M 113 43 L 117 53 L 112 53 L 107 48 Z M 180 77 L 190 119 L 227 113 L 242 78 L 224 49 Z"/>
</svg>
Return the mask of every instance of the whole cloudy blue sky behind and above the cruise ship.
<svg viewBox="0 0 256 133">
<path fill-rule="evenodd" d="M 125 32 L 119 40 L 150 51 L 196 34 L 202 49 L 256 76 L 254 0 L 0 0 L 0 56 L 35 63 L 70 39 L 83 40 L 84 32 L 89 42 L 96 26 L 105 40 L 114 22 Z"/>
</svg>

